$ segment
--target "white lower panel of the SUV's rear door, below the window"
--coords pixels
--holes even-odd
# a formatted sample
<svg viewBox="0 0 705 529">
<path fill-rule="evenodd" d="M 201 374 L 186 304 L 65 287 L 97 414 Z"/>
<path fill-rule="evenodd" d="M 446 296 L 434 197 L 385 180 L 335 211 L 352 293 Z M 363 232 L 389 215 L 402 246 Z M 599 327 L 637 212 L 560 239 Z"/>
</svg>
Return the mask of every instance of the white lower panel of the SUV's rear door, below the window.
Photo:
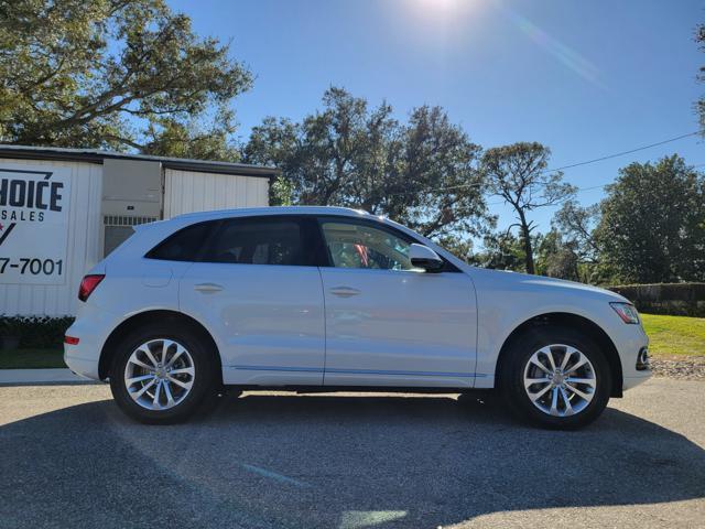
<svg viewBox="0 0 705 529">
<path fill-rule="evenodd" d="M 198 285 L 218 284 L 218 292 Z M 220 341 L 224 382 L 321 385 L 325 320 L 316 267 L 193 264 L 182 277 L 180 307 L 209 322 Z"/>
</svg>

